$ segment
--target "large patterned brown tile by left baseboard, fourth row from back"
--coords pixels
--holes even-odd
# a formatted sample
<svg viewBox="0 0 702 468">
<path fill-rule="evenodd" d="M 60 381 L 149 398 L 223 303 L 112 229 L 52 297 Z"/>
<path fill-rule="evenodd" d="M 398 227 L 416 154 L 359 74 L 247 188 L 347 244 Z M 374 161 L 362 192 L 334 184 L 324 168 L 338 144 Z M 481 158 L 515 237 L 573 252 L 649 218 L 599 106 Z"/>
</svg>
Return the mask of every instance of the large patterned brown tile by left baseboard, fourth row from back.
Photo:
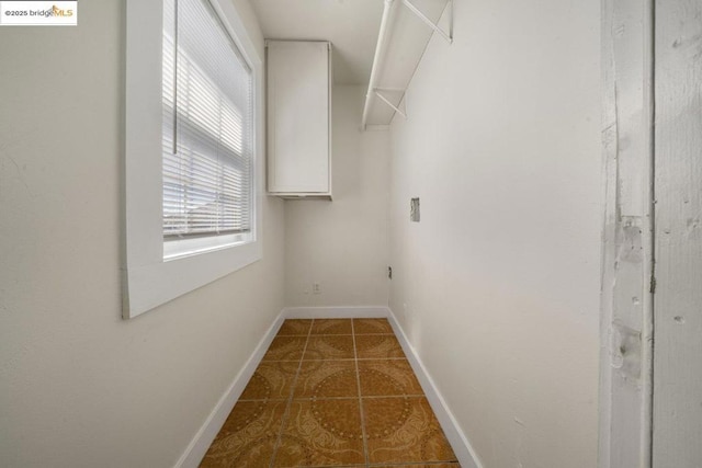
<svg viewBox="0 0 702 468">
<path fill-rule="evenodd" d="M 202 468 L 269 466 L 286 402 L 240 401 L 201 463 Z"/>
</svg>

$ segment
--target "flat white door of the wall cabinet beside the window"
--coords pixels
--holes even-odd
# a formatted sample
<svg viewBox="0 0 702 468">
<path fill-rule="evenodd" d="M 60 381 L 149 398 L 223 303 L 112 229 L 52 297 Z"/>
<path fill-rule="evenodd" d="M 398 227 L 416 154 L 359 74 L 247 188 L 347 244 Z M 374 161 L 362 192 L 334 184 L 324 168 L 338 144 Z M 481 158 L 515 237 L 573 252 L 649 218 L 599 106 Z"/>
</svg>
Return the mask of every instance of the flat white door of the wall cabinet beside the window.
<svg viewBox="0 0 702 468">
<path fill-rule="evenodd" d="M 269 192 L 329 193 L 329 43 L 268 43 Z"/>
</svg>

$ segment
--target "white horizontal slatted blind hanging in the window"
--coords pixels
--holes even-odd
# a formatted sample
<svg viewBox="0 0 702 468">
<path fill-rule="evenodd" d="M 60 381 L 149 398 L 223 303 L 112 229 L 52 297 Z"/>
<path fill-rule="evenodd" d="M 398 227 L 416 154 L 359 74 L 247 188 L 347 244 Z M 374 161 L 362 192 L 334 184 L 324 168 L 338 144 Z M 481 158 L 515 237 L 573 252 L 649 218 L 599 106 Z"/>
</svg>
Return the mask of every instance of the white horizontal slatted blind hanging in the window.
<svg viewBox="0 0 702 468">
<path fill-rule="evenodd" d="M 163 8 L 165 252 L 220 247 L 251 231 L 252 73 L 207 0 Z"/>
</svg>

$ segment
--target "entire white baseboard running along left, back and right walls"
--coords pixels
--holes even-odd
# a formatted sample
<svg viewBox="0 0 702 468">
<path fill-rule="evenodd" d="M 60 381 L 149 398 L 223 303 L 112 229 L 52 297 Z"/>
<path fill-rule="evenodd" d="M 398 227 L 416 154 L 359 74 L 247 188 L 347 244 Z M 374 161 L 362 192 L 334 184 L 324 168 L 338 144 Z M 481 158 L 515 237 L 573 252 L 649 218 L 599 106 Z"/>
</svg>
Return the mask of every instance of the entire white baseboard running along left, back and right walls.
<svg viewBox="0 0 702 468">
<path fill-rule="evenodd" d="M 200 427 L 197 434 L 193 437 L 190 445 L 176 464 L 176 468 L 196 468 L 202 458 L 207 453 L 210 445 L 217 436 L 222 425 L 231 412 L 237 400 L 241 396 L 246 385 L 256 372 L 263 354 L 271 345 L 275 333 L 281 328 L 285 319 L 349 319 L 349 318 L 386 318 L 393 326 L 393 330 L 399 340 L 407 361 L 411 365 L 417 379 L 424 390 L 427 400 L 434 411 L 441 427 L 443 429 L 453 452 L 456 454 L 458 461 L 463 468 L 483 468 L 479 458 L 475 455 L 475 450 L 471 446 L 467 437 L 461 431 L 453 413 L 446 406 L 443 397 L 437 389 L 434 381 L 424 368 L 421 359 L 409 344 L 405 331 L 399 326 L 395 315 L 388 307 L 369 306 L 369 307 L 286 307 L 275 318 L 271 327 L 268 329 L 258 346 L 247 361 L 244 368 L 234 378 L 231 385 L 222 396 L 212 413 Z"/>
</svg>

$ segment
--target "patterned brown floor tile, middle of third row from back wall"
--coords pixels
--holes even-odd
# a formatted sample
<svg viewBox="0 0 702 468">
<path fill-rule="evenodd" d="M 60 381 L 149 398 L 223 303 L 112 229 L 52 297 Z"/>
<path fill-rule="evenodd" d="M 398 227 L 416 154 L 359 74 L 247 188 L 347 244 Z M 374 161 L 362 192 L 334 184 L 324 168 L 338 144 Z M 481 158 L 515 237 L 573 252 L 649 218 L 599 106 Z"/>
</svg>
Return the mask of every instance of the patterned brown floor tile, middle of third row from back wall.
<svg viewBox="0 0 702 468">
<path fill-rule="evenodd" d="M 303 361 L 293 398 L 358 397 L 353 361 Z"/>
</svg>

